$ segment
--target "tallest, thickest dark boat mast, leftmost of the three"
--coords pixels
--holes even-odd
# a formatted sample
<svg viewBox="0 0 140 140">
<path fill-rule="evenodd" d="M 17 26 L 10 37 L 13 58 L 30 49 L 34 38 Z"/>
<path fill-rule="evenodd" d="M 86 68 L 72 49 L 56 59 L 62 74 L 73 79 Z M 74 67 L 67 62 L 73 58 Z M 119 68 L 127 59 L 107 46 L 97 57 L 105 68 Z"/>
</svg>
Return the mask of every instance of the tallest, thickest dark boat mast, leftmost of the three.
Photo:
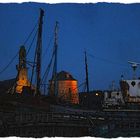
<svg viewBox="0 0 140 140">
<path fill-rule="evenodd" d="M 40 9 L 40 17 L 38 24 L 38 36 L 37 36 L 37 60 L 36 60 L 36 94 L 40 94 L 40 82 L 41 82 L 41 53 L 42 53 L 42 24 L 43 24 L 44 11 Z"/>
</svg>

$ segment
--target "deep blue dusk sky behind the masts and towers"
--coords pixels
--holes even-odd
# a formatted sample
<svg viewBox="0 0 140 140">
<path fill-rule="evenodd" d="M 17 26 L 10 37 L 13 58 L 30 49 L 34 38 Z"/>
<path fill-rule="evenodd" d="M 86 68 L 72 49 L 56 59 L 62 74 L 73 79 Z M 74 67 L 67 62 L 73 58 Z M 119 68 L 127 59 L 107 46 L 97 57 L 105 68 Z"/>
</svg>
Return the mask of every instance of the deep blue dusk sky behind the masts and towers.
<svg viewBox="0 0 140 140">
<path fill-rule="evenodd" d="M 70 72 L 81 84 L 85 80 L 86 49 L 90 89 L 108 89 L 113 80 L 118 87 L 122 74 L 131 78 L 127 61 L 140 62 L 140 4 L 0 4 L 0 70 L 33 29 L 39 8 L 45 10 L 43 54 L 53 36 L 55 21 L 59 22 L 58 71 Z M 53 41 L 50 46 L 52 49 Z M 43 57 L 43 68 L 51 49 Z M 0 75 L 0 80 L 16 76 L 17 62 L 18 59 Z M 140 76 L 139 69 L 137 75 Z"/>
</svg>

